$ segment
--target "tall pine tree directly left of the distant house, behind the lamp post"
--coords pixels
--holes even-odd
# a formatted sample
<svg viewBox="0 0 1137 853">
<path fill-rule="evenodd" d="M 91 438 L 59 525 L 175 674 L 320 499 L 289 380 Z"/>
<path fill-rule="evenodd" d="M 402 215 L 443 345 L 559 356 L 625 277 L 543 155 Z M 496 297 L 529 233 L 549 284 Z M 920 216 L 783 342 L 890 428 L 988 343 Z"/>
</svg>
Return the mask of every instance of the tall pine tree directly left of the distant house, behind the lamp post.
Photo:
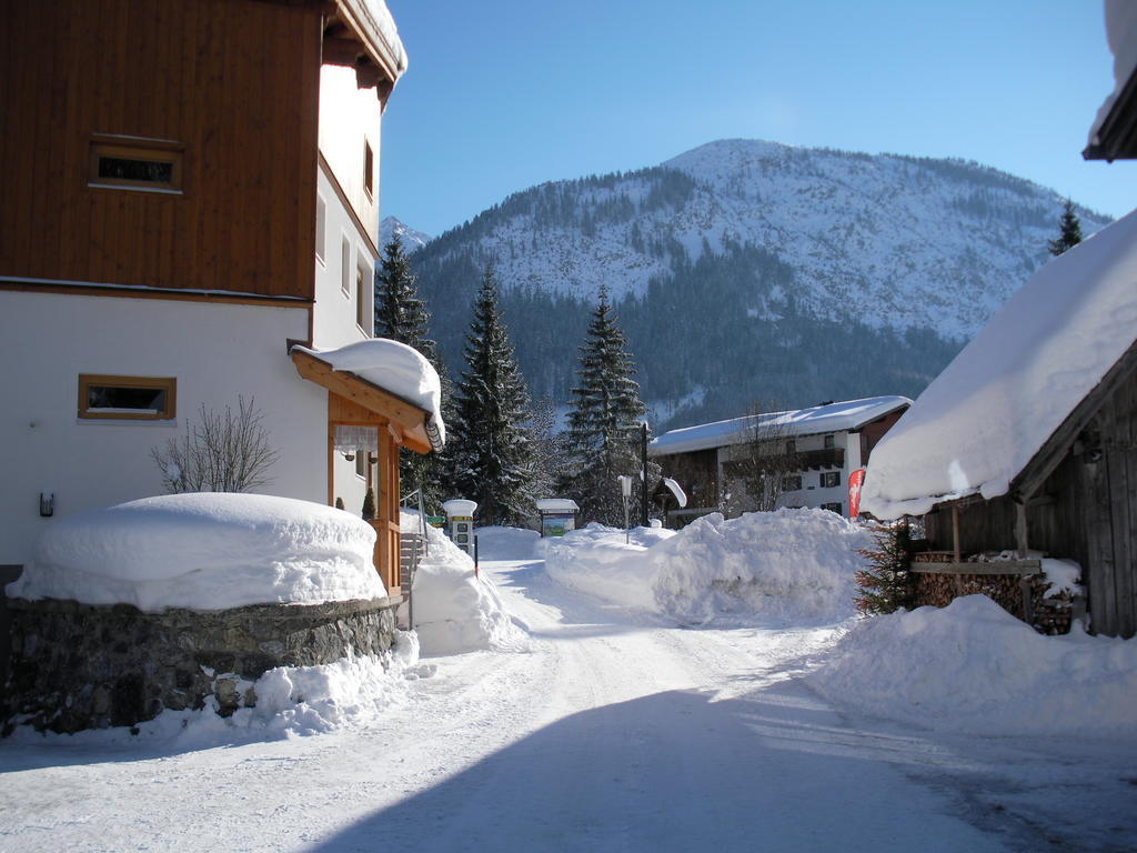
<svg viewBox="0 0 1137 853">
<path fill-rule="evenodd" d="M 604 287 L 580 347 L 579 365 L 566 436 L 570 473 L 563 486 L 586 520 L 623 525 L 617 478 L 632 475 L 639 482 L 640 422 L 647 408 Z M 649 472 L 648 481 L 653 479 Z M 639 517 L 639 489 L 633 492 L 632 517 Z"/>
</svg>

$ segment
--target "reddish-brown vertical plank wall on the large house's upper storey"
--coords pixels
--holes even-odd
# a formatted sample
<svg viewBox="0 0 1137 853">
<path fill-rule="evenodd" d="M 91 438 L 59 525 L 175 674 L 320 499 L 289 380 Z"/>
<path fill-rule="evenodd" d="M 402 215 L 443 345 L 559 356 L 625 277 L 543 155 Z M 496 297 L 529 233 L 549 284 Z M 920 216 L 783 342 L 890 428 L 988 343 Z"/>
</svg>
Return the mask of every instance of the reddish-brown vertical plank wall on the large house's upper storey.
<svg viewBox="0 0 1137 853">
<path fill-rule="evenodd" d="M 0 10 L 0 275 L 313 296 L 318 5 Z M 89 188 L 93 133 L 183 142 L 183 194 Z"/>
</svg>

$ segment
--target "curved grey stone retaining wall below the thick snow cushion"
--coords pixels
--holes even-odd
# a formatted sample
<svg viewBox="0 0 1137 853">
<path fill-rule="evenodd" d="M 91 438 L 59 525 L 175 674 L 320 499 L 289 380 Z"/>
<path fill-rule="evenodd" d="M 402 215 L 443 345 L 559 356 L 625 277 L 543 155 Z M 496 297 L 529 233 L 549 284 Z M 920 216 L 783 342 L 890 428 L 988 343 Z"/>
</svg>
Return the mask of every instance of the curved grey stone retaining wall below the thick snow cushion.
<svg viewBox="0 0 1137 853">
<path fill-rule="evenodd" d="M 391 647 L 397 601 L 262 604 L 143 613 L 9 598 L 11 666 L 3 734 L 134 726 L 165 709 L 223 717 L 256 704 L 248 682 L 275 666 L 309 666 Z"/>
</svg>

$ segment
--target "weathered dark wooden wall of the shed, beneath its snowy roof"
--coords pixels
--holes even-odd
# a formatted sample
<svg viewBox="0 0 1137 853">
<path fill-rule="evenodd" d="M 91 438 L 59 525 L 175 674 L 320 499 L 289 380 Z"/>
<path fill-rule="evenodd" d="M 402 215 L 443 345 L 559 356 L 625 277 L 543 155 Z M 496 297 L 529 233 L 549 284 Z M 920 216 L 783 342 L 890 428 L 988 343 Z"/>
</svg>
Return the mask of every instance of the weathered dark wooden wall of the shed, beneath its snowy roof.
<svg viewBox="0 0 1137 853">
<path fill-rule="evenodd" d="M 937 504 L 924 529 L 930 548 L 963 556 L 1030 549 L 1073 560 L 1090 630 L 1137 635 L 1137 343 L 1007 495 Z"/>
</svg>

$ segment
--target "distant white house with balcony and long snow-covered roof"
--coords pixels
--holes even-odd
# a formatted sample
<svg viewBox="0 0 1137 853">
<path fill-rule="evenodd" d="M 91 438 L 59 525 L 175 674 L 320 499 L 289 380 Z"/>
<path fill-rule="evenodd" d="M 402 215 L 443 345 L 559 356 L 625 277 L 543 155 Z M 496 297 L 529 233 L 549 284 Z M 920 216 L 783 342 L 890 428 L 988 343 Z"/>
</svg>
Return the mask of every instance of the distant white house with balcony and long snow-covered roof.
<svg viewBox="0 0 1137 853">
<path fill-rule="evenodd" d="M 724 505 L 750 508 L 740 463 L 753 454 L 756 440 L 771 462 L 792 459 L 771 465 L 781 478 L 779 506 L 848 515 L 849 477 L 911 405 L 907 397 L 869 397 L 746 415 L 671 430 L 653 440 L 647 453 L 687 492 L 688 506 L 669 512 L 669 520 L 680 525 Z"/>
</svg>

